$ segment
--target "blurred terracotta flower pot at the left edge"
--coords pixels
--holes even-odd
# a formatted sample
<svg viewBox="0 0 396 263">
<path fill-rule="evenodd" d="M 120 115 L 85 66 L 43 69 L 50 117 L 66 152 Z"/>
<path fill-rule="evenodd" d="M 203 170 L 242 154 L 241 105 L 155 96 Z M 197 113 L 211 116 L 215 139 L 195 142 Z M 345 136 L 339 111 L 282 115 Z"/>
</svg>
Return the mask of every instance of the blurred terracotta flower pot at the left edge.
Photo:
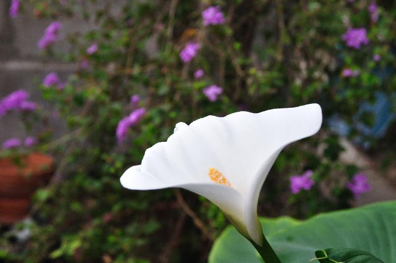
<svg viewBox="0 0 396 263">
<path fill-rule="evenodd" d="M 30 198 L 53 173 L 53 158 L 32 153 L 23 157 L 24 167 L 0 159 L 0 223 L 12 224 L 29 213 Z"/>
</svg>

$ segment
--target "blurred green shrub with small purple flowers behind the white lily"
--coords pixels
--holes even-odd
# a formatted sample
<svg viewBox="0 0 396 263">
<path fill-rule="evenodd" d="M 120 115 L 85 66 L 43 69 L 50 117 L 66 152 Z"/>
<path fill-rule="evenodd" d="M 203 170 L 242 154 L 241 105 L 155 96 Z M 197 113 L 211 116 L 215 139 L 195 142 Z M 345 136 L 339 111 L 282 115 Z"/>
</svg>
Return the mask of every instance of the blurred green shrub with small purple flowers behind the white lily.
<svg viewBox="0 0 396 263">
<path fill-rule="evenodd" d="M 383 169 L 393 164 L 392 0 L 10 2 L 11 17 L 53 20 L 38 43 L 43 55 L 79 66 L 65 80 L 48 72 L 38 85 L 68 131 L 44 145 L 57 169 L 36 192 L 34 220 L 15 226 L 29 237 L 0 238 L 5 262 L 205 262 L 228 224 L 216 206 L 186 191 L 129 191 L 119 182 L 178 122 L 322 106 L 321 131 L 288 146 L 264 183 L 258 213 L 267 217 L 347 208 L 370 189 L 355 164 L 340 161 L 340 136 Z M 61 39 L 64 17 L 95 28 Z M 61 42 L 70 48 L 55 51 Z M 378 103 L 387 105 L 381 114 L 370 108 Z"/>
</svg>

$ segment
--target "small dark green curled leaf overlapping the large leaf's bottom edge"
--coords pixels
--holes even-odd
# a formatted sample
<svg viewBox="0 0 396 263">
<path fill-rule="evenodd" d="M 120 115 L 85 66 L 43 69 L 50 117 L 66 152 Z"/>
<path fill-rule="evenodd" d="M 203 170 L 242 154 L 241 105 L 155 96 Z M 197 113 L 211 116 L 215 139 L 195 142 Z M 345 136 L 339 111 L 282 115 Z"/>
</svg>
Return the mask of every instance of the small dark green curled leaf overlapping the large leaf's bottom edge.
<svg viewBox="0 0 396 263">
<path fill-rule="evenodd" d="M 315 252 L 320 263 L 384 263 L 370 253 L 358 249 L 325 249 Z"/>
</svg>

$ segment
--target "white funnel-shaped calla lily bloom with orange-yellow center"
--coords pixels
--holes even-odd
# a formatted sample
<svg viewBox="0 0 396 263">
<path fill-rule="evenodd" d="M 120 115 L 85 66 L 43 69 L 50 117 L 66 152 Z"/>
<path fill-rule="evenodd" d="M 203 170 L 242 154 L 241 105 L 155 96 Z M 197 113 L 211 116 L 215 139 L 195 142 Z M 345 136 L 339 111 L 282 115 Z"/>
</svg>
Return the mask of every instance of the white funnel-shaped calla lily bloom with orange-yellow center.
<svg viewBox="0 0 396 263">
<path fill-rule="evenodd" d="M 261 246 L 257 203 L 264 180 L 287 144 L 313 135 L 321 124 L 318 104 L 178 123 L 166 142 L 147 149 L 141 165 L 122 175 L 121 184 L 133 190 L 180 187 L 205 196 Z"/>
</svg>

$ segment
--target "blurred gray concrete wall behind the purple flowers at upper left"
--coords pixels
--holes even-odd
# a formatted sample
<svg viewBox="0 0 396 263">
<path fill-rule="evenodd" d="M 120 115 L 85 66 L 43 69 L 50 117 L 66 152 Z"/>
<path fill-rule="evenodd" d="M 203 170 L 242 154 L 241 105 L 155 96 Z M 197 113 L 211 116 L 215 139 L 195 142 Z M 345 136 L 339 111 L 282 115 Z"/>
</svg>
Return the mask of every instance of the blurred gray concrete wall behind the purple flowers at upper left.
<svg viewBox="0 0 396 263">
<path fill-rule="evenodd" d="M 31 100 L 50 110 L 40 98 L 37 81 L 41 82 L 51 71 L 57 72 L 62 80 L 66 80 L 77 69 L 77 65 L 44 56 L 37 47 L 37 42 L 51 20 L 34 18 L 29 6 L 25 6 L 26 12 L 20 12 L 12 19 L 8 15 L 8 4 L 8 0 L 0 0 L 0 98 L 23 88 L 31 93 Z M 76 17 L 60 21 L 63 27 L 59 34 L 60 41 L 54 44 L 56 51 L 69 48 L 67 42 L 62 41 L 68 34 L 77 32 L 77 29 L 86 32 L 93 27 Z M 19 119 L 19 115 L 14 112 L 0 118 L 0 144 L 9 137 L 23 138 L 27 135 Z M 59 130 L 63 130 L 64 126 L 59 121 L 54 121 L 53 125 L 58 130 L 57 133 L 62 133 Z"/>
</svg>

